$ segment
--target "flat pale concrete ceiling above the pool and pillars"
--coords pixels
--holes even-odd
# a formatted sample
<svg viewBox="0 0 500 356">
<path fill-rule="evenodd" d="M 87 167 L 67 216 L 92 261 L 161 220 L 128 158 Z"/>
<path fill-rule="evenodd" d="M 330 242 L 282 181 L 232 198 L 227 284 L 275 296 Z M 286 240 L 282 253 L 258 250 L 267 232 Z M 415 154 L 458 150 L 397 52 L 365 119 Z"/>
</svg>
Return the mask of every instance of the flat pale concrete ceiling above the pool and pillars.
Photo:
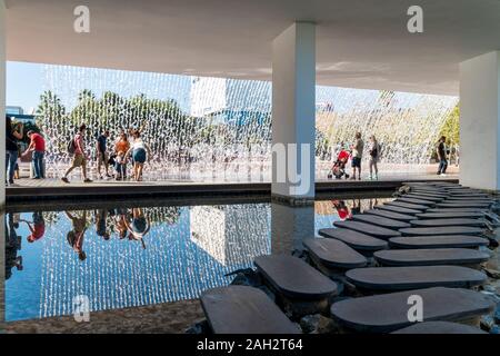
<svg viewBox="0 0 500 356">
<path fill-rule="evenodd" d="M 90 33 L 73 9 L 90 9 Z M 423 8 L 424 32 L 407 31 Z M 271 79 L 272 40 L 317 28 L 318 83 L 458 93 L 459 62 L 500 49 L 500 0 L 6 0 L 13 61 Z"/>
</svg>

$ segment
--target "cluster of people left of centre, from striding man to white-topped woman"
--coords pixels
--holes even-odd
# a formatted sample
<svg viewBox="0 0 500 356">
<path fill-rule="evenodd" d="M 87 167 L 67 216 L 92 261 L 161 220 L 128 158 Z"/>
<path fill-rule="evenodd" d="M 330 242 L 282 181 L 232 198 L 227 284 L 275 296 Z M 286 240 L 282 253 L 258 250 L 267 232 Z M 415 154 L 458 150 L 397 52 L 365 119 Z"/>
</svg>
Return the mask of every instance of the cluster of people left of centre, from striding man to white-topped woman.
<svg viewBox="0 0 500 356">
<path fill-rule="evenodd" d="M 83 182 L 91 182 L 92 180 L 87 177 L 87 161 L 89 160 L 86 150 L 86 132 L 87 126 L 81 125 L 78 132 L 71 139 L 68 145 L 68 152 L 72 155 L 71 166 L 62 176 L 63 182 L 69 182 L 68 176 L 74 169 L 80 167 L 82 172 Z M 129 135 L 132 137 L 132 141 L 129 142 Z M 142 180 L 142 172 L 144 162 L 151 157 L 148 145 L 142 140 L 139 129 L 130 129 L 129 132 L 122 130 L 118 140 L 114 142 L 114 147 L 111 155 L 108 150 L 108 139 L 110 137 L 109 130 L 103 131 L 96 142 L 97 152 L 97 168 L 100 179 L 103 178 L 102 169 L 106 177 L 111 178 L 109 167 L 113 167 L 116 170 L 114 178 L 117 180 L 127 179 L 127 164 L 131 158 L 132 160 L 132 178 L 136 181 Z"/>
</svg>

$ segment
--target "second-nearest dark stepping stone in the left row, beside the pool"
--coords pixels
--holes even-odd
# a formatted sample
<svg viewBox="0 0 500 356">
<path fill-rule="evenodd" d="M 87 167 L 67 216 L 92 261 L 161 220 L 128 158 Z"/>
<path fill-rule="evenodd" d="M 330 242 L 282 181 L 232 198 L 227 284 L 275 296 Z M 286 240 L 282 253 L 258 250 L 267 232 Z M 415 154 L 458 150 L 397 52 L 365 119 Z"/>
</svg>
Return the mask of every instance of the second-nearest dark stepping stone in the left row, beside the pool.
<svg viewBox="0 0 500 356">
<path fill-rule="evenodd" d="M 283 296 L 316 300 L 337 293 L 337 284 L 303 260 L 292 256 L 259 256 L 257 269 Z"/>
</svg>

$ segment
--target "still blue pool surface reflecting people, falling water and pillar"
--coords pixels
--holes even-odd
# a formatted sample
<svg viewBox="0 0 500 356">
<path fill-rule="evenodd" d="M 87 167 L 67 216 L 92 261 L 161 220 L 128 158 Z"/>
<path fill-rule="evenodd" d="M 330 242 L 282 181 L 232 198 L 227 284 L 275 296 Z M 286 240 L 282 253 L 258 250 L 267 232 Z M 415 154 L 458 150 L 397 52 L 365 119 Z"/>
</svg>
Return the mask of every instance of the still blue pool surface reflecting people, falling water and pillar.
<svg viewBox="0 0 500 356">
<path fill-rule="evenodd" d="M 6 319 L 69 315 L 79 295 L 89 297 L 91 310 L 197 298 L 229 284 L 227 274 L 252 267 L 256 256 L 301 249 L 303 238 L 344 218 L 340 212 L 373 204 L 9 212 Z"/>
</svg>

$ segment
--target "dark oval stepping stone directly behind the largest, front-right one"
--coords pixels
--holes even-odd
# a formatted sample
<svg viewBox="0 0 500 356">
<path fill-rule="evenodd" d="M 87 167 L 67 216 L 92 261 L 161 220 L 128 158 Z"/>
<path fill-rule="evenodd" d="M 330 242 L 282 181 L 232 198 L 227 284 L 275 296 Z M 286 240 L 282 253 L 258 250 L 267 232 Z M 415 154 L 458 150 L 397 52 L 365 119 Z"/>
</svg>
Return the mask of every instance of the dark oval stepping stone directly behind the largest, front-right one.
<svg viewBox="0 0 500 356">
<path fill-rule="evenodd" d="M 471 288 L 483 284 L 486 274 L 460 266 L 369 267 L 348 270 L 357 287 L 369 290 L 408 290 L 430 287 Z"/>
</svg>

